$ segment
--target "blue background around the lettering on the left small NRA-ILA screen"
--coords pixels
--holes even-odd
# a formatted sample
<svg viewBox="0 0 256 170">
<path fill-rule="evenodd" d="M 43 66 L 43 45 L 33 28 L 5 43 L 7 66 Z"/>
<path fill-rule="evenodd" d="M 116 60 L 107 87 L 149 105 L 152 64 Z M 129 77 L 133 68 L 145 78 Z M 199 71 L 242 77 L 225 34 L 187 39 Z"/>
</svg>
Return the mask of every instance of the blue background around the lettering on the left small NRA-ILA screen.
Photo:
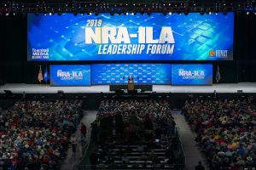
<svg viewBox="0 0 256 170">
<path fill-rule="evenodd" d="M 57 77 L 57 71 L 81 71 L 81 80 L 61 80 Z M 89 86 L 90 85 L 90 65 L 50 65 L 49 81 L 51 86 Z"/>
</svg>

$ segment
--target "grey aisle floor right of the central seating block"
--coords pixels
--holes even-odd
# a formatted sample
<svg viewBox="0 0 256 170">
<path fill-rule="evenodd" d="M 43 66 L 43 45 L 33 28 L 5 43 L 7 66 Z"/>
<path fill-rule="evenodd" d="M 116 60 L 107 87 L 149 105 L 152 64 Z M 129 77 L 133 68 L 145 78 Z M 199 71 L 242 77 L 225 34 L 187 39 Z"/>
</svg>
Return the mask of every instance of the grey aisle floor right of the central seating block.
<svg viewBox="0 0 256 170">
<path fill-rule="evenodd" d="M 208 163 L 205 156 L 202 155 L 200 148 L 195 143 L 195 133 L 191 131 L 189 124 L 185 121 L 184 116 L 181 115 L 181 111 L 172 111 L 172 116 L 174 121 L 177 123 L 179 136 L 181 143 L 183 144 L 184 154 L 186 156 L 186 166 L 185 169 L 193 170 L 198 164 L 198 161 L 202 161 L 206 170 Z"/>
</svg>

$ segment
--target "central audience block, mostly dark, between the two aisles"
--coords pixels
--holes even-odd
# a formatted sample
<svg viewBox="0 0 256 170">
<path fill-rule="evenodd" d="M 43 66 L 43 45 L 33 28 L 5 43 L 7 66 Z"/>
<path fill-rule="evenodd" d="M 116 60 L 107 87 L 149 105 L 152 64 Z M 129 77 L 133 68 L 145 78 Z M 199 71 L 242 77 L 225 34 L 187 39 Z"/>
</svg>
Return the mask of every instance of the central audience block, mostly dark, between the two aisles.
<svg viewBox="0 0 256 170">
<path fill-rule="evenodd" d="M 182 161 L 174 131 L 166 101 L 102 101 L 92 124 L 90 163 L 97 169 L 175 168 Z"/>
</svg>

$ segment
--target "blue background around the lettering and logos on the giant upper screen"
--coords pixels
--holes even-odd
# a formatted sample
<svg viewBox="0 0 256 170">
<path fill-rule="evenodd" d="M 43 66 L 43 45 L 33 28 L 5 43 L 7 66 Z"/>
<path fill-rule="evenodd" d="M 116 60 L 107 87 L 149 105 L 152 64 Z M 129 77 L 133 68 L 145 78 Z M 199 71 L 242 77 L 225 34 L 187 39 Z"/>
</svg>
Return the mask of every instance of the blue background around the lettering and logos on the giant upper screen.
<svg viewBox="0 0 256 170">
<path fill-rule="evenodd" d="M 86 20 L 102 20 L 102 26 L 128 27 L 137 33 L 139 26 L 153 26 L 159 38 L 162 26 L 171 26 L 175 39 L 173 54 L 98 54 L 99 44 L 84 43 Z M 137 15 L 99 14 L 61 16 L 27 15 L 28 60 L 227 60 L 233 59 L 234 14 L 196 13 Z M 137 38 L 131 38 L 137 44 Z M 32 48 L 49 48 L 49 59 L 32 59 Z M 211 57 L 211 50 L 228 50 L 228 58 Z M 145 52 L 145 51 L 144 51 Z"/>
</svg>

